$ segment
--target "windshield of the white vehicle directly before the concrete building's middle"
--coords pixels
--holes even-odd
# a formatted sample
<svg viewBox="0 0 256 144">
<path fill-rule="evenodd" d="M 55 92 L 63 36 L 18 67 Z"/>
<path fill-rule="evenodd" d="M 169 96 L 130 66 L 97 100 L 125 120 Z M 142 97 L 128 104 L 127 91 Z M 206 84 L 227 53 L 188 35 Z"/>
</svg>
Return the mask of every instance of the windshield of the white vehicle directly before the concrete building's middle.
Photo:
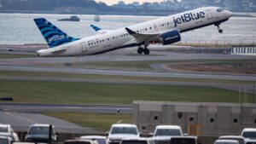
<svg viewBox="0 0 256 144">
<path fill-rule="evenodd" d="M 156 130 L 155 136 L 179 136 L 182 135 L 178 129 L 159 129 Z"/>
</svg>

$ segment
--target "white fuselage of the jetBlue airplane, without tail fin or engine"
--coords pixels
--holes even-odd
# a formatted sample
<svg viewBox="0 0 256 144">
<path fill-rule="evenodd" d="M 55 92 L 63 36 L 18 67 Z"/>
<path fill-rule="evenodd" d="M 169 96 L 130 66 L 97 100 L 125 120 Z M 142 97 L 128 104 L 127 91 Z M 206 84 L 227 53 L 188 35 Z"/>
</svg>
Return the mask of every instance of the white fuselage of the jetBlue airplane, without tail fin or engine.
<svg viewBox="0 0 256 144">
<path fill-rule="evenodd" d="M 173 14 L 156 20 L 150 20 L 137 25 L 128 26 L 128 28 L 133 32 L 143 34 L 167 32 L 169 30 L 178 30 L 182 33 L 204 26 L 219 25 L 225 20 L 229 20 L 230 16 L 231 13 L 227 10 L 219 9 L 216 7 L 206 7 L 190 10 L 180 14 Z M 134 47 L 139 44 L 140 43 L 137 43 L 136 38 L 131 36 L 131 34 L 129 34 L 125 28 L 119 28 L 109 32 L 102 32 L 100 34 L 96 34 L 95 36 L 84 37 L 72 43 L 65 43 L 54 48 L 41 49 L 38 50 L 38 55 L 96 55 L 114 49 Z"/>
</svg>

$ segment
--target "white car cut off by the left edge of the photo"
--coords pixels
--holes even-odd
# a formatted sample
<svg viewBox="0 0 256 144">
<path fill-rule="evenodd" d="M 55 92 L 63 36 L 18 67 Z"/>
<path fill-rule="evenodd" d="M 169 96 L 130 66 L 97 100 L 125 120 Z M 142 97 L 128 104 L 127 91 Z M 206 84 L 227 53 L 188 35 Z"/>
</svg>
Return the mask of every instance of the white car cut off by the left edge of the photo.
<svg viewBox="0 0 256 144">
<path fill-rule="evenodd" d="M 9 124 L 0 124 L 0 136 L 7 136 L 11 141 L 20 141 L 19 136 Z"/>
</svg>

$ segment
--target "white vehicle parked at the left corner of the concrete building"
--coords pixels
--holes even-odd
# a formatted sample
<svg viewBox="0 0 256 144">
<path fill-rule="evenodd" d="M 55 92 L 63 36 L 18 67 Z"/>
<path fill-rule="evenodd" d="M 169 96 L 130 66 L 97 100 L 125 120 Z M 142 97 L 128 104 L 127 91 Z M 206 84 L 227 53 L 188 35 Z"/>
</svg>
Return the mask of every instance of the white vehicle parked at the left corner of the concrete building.
<svg viewBox="0 0 256 144">
<path fill-rule="evenodd" d="M 108 133 L 108 143 L 117 143 L 126 138 L 139 138 L 140 134 L 135 124 L 113 124 Z"/>
</svg>

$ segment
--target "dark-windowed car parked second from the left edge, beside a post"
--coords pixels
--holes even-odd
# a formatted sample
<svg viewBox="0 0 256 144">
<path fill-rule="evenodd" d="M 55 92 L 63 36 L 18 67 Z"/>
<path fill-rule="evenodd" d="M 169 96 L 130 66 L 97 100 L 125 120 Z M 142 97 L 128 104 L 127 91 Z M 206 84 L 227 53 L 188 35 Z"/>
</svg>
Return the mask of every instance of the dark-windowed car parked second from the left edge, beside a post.
<svg viewBox="0 0 256 144">
<path fill-rule="evenodd" d="M 49 124 L 32 124 L 25 136 L 28 142 L 48 142 L 49 141 Z M 55 128 L 52 126 L 51 141 L 57 141 Z"/>
</svg>

